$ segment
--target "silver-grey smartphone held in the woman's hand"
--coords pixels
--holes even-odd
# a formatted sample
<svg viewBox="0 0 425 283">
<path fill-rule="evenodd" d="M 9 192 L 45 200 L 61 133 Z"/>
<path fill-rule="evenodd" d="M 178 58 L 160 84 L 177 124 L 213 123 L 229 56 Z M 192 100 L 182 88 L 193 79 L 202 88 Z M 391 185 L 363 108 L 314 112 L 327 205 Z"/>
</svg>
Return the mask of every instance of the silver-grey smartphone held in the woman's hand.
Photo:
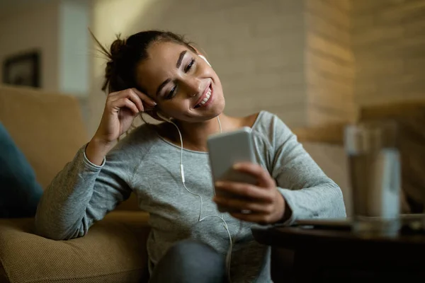
<svg viewBox="0 0 425 283">
<path fill-rule="evenodd" d="M 256 185 L 254 176 L 235 171 L 232 167 L 235 163 L 256 163 L 254 154 L 254 139 L 250 127 L 242 127 L 233 132 L 213 134 L 208 137 L 208 152 L 212 171 L 212 181 L 229 180 L 239 183 Z M 216 195 L 228 194 L 216 191 Z M 228 212 L 223 207 L 218 207 L 220 212 Z"/>
</svg>

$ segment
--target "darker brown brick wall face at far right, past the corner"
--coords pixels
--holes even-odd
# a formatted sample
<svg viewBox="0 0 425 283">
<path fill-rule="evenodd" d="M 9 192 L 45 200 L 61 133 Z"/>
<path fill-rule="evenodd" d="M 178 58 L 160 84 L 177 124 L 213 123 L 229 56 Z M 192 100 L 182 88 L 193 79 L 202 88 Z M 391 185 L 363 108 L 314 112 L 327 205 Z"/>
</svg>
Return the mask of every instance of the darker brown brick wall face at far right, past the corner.
<svg viewBox="0 0 425 283">
<path fill-rule="evenodd" d="M 353 1 L 358 105 L 425 96 L 425 0 Z"/>
</svg>

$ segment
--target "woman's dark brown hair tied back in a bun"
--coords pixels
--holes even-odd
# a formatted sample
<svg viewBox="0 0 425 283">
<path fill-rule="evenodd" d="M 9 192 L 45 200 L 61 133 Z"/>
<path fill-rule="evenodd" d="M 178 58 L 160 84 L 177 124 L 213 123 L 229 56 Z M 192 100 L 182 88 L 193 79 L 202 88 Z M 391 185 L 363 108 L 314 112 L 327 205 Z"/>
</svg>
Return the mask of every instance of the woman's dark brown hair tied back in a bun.
<svg viewBox="0 0 425 283">
<path fill-rule="evenodd" d="M 91 35 L 94 37 L 93 33 Z M 191 42 L 186 41 L 182 35 L 161 30 L 142 31 L 127 39 L 120 39 L 120 35 L 117 35 L 117 39 L 112 42 L 110 51 L 103 47 L 96 37 L 94 40 L 101 48 L 100 51 L 109 59 L 106 63 L 105 81 L 102 86 L 102 91 L 108 90 L 108 93 L 123 91 L 127 88 L 140 89 L 137 86 L 135 69 L 137 64 L 147 59 L 147 49 L 154 42 L 175 42 L 196 52 L 191 46 Z"/>
</svg>

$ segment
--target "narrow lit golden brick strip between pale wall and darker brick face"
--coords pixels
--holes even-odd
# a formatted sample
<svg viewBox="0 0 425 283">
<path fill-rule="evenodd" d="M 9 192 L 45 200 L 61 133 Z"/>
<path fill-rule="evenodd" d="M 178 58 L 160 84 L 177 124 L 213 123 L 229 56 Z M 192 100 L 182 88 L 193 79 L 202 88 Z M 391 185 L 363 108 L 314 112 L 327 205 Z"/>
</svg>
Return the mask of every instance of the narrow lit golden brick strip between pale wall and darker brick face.
<svg viewBox="0 0 425 283">
<path fill-rule="evenodd" d="M 353 120 L 351 1 L 305 0 L 305 5 L 307 122 L 318 125 Z"/>
</svg>

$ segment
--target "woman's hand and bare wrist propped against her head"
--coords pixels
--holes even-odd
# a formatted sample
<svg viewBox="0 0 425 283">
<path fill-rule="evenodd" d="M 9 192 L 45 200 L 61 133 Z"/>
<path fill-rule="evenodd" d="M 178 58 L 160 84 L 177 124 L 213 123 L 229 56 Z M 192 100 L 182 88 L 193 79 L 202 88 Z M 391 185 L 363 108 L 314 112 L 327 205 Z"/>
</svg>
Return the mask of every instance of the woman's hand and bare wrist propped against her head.
<svg viewBox="0 0 425 283">
<path fill-rule="evenodd" d="M 128 131 L 135 117 L 143 111 L 152 110 L 156 103 L 135 88 L 110 93 L 106 99 L 101 123 L 86 147 L 86 156 L 92 163 L 101 165 L 122 134 Z"/>
</svg>

